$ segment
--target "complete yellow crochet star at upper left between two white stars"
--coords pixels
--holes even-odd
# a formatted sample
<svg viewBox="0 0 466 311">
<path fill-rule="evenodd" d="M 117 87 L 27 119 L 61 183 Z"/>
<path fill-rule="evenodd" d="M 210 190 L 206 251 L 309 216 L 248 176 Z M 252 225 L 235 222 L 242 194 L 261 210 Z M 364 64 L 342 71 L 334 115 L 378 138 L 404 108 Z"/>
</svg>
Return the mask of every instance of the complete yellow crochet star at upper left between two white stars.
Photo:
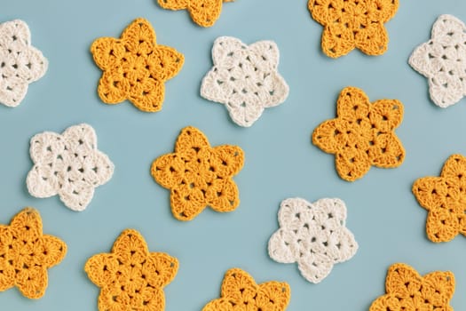
<svg viewBox="0 0 466 311">
<path fill-rule="evenodd" d="M 175 49 L 156 44 L 149 21 L 134 20 L 119 39 L 102 37 L 91 45 L 97 66 L 104 72 L 99 97 L 107 104 L 130 100 L 142 111 L 162 109 L 165 81 L 177 76 L 184 56 Z"/>
</svg>

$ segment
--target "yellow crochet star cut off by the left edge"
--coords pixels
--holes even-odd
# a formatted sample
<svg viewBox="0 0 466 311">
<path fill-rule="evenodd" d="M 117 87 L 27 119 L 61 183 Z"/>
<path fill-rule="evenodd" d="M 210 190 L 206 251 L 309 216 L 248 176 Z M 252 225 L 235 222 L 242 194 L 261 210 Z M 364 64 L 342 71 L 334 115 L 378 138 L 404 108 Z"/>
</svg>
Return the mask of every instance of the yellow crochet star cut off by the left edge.
<svg viewBox="0 0 466 311">
<path fill-rule="evenodd" d="M 47 269 L 65 258 L 67 244 L 43 235 L 39 212 L 26 208 L 10 226 L 0 225 L 0 291 L 13 286 L 30 299 L 43 297 L 48 285 Z"/>
</svg>

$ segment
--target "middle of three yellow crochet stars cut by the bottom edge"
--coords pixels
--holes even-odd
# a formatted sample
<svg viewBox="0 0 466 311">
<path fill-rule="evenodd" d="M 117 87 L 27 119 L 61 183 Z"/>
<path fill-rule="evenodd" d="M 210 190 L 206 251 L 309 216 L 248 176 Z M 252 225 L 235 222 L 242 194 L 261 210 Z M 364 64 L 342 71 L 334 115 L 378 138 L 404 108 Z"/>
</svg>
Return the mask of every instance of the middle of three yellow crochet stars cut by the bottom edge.
<svg viewBox="0 0 466 311">
<path fill-rule="evenodd" d="M 246 271 L 232 268 L 225 274 L 221 298 L 210 301 L 202 311 L 284 311 L 289 298 L 288 283 L 257 284 Z"/>
</svg>

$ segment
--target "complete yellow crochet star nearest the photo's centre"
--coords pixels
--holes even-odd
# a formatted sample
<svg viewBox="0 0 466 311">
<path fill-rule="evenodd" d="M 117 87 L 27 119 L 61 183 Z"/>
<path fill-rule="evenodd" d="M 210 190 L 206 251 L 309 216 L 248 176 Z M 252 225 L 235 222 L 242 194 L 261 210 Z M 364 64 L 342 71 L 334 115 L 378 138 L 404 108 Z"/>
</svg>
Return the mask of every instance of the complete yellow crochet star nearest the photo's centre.
<svg viewBox="0 0 466 311">
<path fill-rule="evenodd" d="M 240 204 L 233 181 L 244 163 L 241 148 L 210 147 L 207 137 L 188 126 L 178 136 L 175 153 L 158 157 L 151 174 L 170 189 L 170 205 L 178 220 L 194 219 L 209 205 L 214 211 L 233 211 Z"/>
</svg>

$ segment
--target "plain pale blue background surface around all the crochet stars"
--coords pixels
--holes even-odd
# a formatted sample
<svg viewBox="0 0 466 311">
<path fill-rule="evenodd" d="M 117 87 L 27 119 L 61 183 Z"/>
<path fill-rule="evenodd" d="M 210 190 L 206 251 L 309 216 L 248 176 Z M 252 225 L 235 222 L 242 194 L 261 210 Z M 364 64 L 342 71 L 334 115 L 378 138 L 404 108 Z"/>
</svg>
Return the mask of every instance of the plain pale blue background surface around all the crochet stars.
<svg viewBox="0 0 466 311">
<path fill-rule="evenodd" d="M 427 80 L 407 65 L 415 46 L 430 38 L 438 15 L 466 20 L 462 0 L 401 1 L 386 27 L 389 50 L 369 57 L 359 51 L 337 60 L 320 50 L 322 27 L 312 20 L 307 1 L 237 0 L 224 4 L 212 28 L 200 28 L 187 12 L 160 8 L 154 0 L 0 0 L 0 20 L 27 21 L 32 44 L 50 61 L 47 74 L 29 87 L 18 108 L 0 105 L 0 223 L 24 206 L 43 217 L 44 232 L 68 245 L 67 257 L 49 270 L 49 287 L 39 300 L 16 289 L 0 293 L 2 310 L 97 310 L 99 288 L 83 271 L 92 255 L 110 251 L 122 229 L 145 236 L 151 251 L 166 251 L 180 261 L 178 275 L 165 288 L 166 310 L 201 310 L 219 296 L 230 267 L 247 270 L 258 283 L 286 281 L 288 310 L 367 310 L 383 295 L 387 267 L 405 262 L 421 274 L 451 270 L 456 276 L 454 309 L 466 308 L 466 239 L 431 243 L 425 235 L 427 212 L 411 194 L 415 179 L 437 176 L 446 158 L 466 155 L 465 101 L 441 109 L 429 99 Z M 184 68 L 166 84 L 162 111 L 140 112 L 129 102 L 107 106 L 96 92 L 101 71 L 89 48 L 100 36 L 120 36 L 131 20 L 151 21 L 157 42 L 186 57 Z M 244 43 L 270 39 L 280 48 L 280 74 L 290 86 L 288 100 L 265 110 L 251 128 L 230 120 L 226 108 L 199 96 L 201 78 L 211 68 L 217 36 Z M 338 177 L 334 156 L 311 143 L 313 129 L 336 115 L 345 86 L 357 86 L 371 100 L 398 99 L 405 117 L 397 134 L 407 150 L 397 169 L 372 168 L 353 183 Z M 86 211 L 68 210 L 58 196 L 28 195 L 32 163 L 29 139 L 37 132 L 62 132 L 91 124 L 99 149 L 115 163 L 115 174 L 99 187 Z M 154 182 L 149 169 L 157 156 L 173 150 L 179 131 L 194 125 L 212 145 L 235 144 L 246 162 L 235 177 L 241 205 L 231 213 L 206 209 L 190 222 L 174 219 L 170 192 Z M 348 207 L 347 227 L 359 243 L 350 261 L 337 264 L 319 284 L 307 283 L 296 265 L 269 259 L 267 242 L 278 228 L 281 200 L 340 197 Z"/>
</svg>

